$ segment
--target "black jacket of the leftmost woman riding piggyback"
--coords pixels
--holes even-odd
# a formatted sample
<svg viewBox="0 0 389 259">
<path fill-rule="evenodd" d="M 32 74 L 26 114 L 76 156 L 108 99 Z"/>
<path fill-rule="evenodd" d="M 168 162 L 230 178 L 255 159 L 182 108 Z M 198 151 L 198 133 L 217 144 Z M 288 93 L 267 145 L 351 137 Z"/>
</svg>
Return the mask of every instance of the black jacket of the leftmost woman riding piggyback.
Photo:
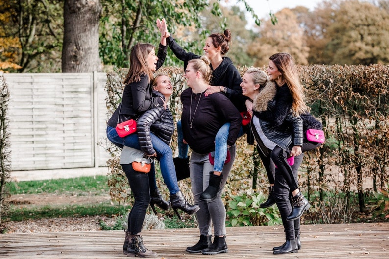
<svg viewBox="0 0 389 259">
<path fill-rule="evenodd" d="M 158 70 L 165 61 L 167 46 L 159 44 L 158 47 Z M 142 113 L 148 109 L 160 107 L 164 104 L 164 100 L 161 97 L 153 97 L 152 87 L 149 82 L 148 75 L 142 75 L 139 82 L 132 82 L 124 87 L 122 105 L 113 113 L 112 117 L 108 120 L 108 125 L 115 128 L 118 123 L 118 115 L 120 110 L 119 122 L 126 121 L 130 118 L 137 119 Z"/>
</svg>

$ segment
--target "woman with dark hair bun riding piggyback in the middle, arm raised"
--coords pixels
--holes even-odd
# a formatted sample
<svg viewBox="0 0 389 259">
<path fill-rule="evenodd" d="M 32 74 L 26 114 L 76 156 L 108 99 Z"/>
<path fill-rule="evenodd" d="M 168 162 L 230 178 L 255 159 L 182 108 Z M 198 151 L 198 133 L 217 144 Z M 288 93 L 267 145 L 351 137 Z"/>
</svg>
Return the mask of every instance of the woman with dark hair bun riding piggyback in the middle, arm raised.
<svg viewBox="0 0 389 259">
<path fill-rule="evenodd" d="M 166 37 L 167 43 L 174 55 L 178 59 L 184 61 L 184 71 L 190 60 L 200 58 L 199 55 L 187 52 L 179 46 L 168 32 L 167 25 L 165 27 L 158 26 L 158 28 L 160 29 L 161 35 Z M 247 111 L 247 107 L 249 107 L 248 110 L 251 111 L 252 102 L 242 95 L 242 88 L 240 87 L 242 77 L 231 59 L 224 56 L 230 49 L 230 42 L 231 32 L 228 29 L 224 30 L 223 33 L 213 33 L 205 40 L 203 50 L 205 56 L 210 60 L 209 67 L 211 68 L 212 79 L 204 95 L 208 96 L 214 93 L 222 93 L 230 99 L 239 112 Z M 226 160 L 226 158 L 229 157 L 230 146 L 227 145 L 229 127 L 229 123 L 224 124 L 214 140 L 215 152 L 209 154 L 211 158 L 214 158 L 214 168 L 210 172 L 212 181 L 210 186 L 206 188 L 201 195 L 202 200 L 212 200 L 219 190 L 221 171 L 223 170 L 224 164 L 228 162 L 228 159 Z M 174 164 L 177 173 L 185 174 L 185 172 L 188 173 L 189 170 L 189 157 L 188 145 L 182 134 L 181 121 L 177 122 L 177 133 L 178 157 L 174 158 Z M 238 137 L 242 136 L 243 133 L 243 128 L 241 128 Z"/>
</svg>

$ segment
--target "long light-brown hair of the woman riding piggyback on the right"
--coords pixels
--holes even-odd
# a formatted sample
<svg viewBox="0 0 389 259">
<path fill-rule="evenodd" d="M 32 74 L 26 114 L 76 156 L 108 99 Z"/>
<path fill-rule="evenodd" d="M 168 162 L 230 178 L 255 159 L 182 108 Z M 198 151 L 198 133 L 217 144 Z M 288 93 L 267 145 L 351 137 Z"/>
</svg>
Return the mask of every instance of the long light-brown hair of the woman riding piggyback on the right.
<svg viewBox="0 0 389 259">
<path fill-rule="evenodd" d="M 289 91 L 292 94 L 292 111 L 294 115 L 299 116 L 302 113 L 309 111 L 309 108 L 305 104 L 305 94 L 300 79 L 294 64 L 293 58 L 289 53 L 276 53 L 269 57 L 274 65 L 280 71 L 280 80 L 286 82 Z"/>
</svg>

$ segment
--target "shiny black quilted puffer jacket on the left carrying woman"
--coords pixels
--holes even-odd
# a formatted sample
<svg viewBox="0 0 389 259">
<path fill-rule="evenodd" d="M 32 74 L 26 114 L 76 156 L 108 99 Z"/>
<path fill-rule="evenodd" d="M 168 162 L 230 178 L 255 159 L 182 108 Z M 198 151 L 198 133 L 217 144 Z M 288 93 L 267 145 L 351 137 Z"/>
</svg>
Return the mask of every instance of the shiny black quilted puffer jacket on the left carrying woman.
<svg viewBox="0 0 389 259">
<path fill-rule="evenodd" d="M 156 91 L 153 91 L 153 96 L 164 98 L 163 95 Z M 174 132 L 173 116 L 169 109 L 165 110 L 164 107 L 152 108 L 137 119 L 138 141 L 141 150 L 146 155 L 155 153 L 150 132 L 169 145 Z"/>
</svg>

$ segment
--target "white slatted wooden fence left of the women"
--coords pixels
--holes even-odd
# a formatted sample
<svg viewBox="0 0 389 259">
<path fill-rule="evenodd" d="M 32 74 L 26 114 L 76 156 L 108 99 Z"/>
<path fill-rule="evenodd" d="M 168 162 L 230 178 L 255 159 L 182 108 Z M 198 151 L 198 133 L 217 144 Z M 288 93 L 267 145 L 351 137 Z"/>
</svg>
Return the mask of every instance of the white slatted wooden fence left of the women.
<svg viewBox="0 0 389 259">
<path fill-rule="evenodd" d="M 105 73 L 4 74 L 12 171 L 106 166 Z"/>
</svg>

